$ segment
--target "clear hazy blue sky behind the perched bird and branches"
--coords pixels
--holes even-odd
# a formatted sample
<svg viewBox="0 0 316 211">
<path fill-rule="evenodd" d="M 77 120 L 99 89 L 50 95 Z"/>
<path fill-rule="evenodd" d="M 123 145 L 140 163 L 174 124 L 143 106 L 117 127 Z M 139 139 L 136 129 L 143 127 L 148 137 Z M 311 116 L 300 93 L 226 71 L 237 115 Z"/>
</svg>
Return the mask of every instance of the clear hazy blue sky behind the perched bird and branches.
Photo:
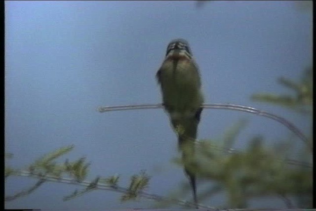
<svg viewBox="0 0 316 211">
<path fill-rule="evenodd" d="M 312 12 L 299 10 L 295 1 L 211 1 L 203 7 L 195 1 L 6 1 L 5 150 L 15 155 L 10 164 L 23 168 L 75 144 L 67 157 L 86 156 L 92 162 L 90 179 L 118 173 L 124 186 L 129 176 L 147 169 L 152 175 L 147 192 L 165 195 L 179 188 L 186 177 L 170 163 L 176 137 L 162 110 L 96 111 L 98 106 L 160 103 L 155 74 L 175 38 L 191 45 L 206 103 L 252 106 L 310 131 L 306 116 L 250 100 L 258 92 L 291 94 L 276 79 L 298 81 L 312 64 Z M 256 134 L 263 134 L 267 144 L 291 135 L 263 117 L 204 110 L 198 138 L 221 137 L 241 118 L 249 126 L 236 149 Z M 9 178 L 6 194 L 35 182 Z M 7 202 L 6 209 L 97 211 L 151 204 L 120 204 L 119 194 L 107 191 L 63 202 L 75 188 L 48 183 L 29 197 Z M 269 206 L 284 208 L 280 200 Z"/>
</svg>

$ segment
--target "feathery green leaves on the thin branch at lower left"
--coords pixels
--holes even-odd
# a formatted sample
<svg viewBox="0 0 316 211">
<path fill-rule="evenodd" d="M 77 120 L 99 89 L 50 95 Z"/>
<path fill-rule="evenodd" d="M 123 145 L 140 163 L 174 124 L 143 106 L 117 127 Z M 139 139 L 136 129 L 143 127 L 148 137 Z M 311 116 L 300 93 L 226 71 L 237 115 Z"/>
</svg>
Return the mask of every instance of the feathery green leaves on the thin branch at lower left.
<svg viewBox="0 0 316 211">
<path fill-rule="evenodd" d="M 131 176 L 129 188 L 127 189 L 118 186 L 118 175 L 104 178 L 97 176 L 91 182 L 85 181 L 89 173 L 88 167 L 90 163 L 86 163 L 84 157 L 79 158 L 73 162 L 70 162 L 68 159 L 66 159 L 63 163 L 58 163 L 56 161 L 57 158 L 72 151 L 73 148 L 74 146 L 71 145 L 61 147 L 51 153 L 48 153 L 37 159 L 33 164 L 27 167 L 26 170 L 13 169 L 6 165 L 5 178 L 9 176 L 28 176 L 37 178 L 38 182 L 25 190 L 19 191 L 13 196 L 6 196 L 5 201 L 12 201 L 28 196 L 47 181 L 85 186 L 84 189 L 76 189 L 71 194 L 65 196 L 63 198 L 64 201 L 77 198 L 95 189 L 119 191 L 123 193 L 122 201 L 132 200 L 139 197 L 139 193 L 143 191 L 149 184 L 150 176 L 148 176 L 144 170 L 142 170 L 139 174 L 134 174 Z M 12 157 L 12 154 L 6 154 L 7 159 Z"/>
</svg>

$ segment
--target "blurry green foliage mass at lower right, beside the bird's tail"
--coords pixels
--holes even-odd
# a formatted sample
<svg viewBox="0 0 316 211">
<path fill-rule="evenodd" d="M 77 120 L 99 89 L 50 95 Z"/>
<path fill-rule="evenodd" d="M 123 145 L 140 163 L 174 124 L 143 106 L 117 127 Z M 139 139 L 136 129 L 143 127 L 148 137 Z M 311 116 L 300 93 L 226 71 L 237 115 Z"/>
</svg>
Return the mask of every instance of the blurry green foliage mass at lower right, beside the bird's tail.
<svg viewBox="0 0 316 211">
<path fill-rule="evenodd" d="M 312 193 L 312 165 L 309 161 L 304 163 L 286 159 L 286 141 L 269 147 L 263 144 L 264 138 L 260 135 L 254 136 L 244 151 L 232 149 L 246 123 L 240 120 L 222 138 L 197 142 L 199 157 L 196 171 L 199 187 L 205 190 L 198 197 L 199 200 L 209 200 L 225 191 L 228 202 L 223 208 L 246 208 L 248 200 L 260 196 L 279 196 L 288 208 L 292 208 L 287 196 Z M 177 165 L 182 165 L 180 161 L 180 158 L 174 159 Z M 169 197 L 183 197 L 188 193 L 190 187 L 183 185 L 177 194 L 170 194 Z M 158 202 L 154 207 L 170 205 Z"/>
</svg>

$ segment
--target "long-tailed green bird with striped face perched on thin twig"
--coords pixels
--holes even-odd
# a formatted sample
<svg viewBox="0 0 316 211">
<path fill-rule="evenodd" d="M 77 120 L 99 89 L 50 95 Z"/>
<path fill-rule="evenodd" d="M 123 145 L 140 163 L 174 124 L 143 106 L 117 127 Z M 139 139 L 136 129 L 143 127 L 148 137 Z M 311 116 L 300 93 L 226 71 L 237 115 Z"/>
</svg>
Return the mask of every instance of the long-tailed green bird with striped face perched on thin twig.
<svg viewBox="0 0 316 211">
<path fill-rule="evenodd" d="M 178 136 L 184 172 L 189 178 L 194 203 L 198 208 L 195 141 L 204 97 L 199 69 L 186 40 L 169 42 L 156 79 L 160 85 L 162 105 Z"/>
</svg>

